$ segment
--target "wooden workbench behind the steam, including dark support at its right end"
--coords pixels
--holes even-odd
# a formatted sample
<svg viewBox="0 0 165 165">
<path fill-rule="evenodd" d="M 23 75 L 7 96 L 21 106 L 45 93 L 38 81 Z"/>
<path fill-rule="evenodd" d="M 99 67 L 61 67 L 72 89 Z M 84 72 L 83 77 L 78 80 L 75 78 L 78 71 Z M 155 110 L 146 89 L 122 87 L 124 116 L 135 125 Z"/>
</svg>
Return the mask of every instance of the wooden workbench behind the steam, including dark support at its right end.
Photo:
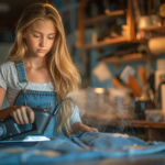
<svg viewBox="0 0 165 165">
<path fill-rule="evenodd" d="M 124 127 L 124 128 L 144 128 L 146 129 L 147 140 L 165 141 L 165 122 L 153 122 L 145 120 L 134 120 L 131 116 L 128 118 L 118 118 L 116 114 L 101 114 L 86 112 L 82 123 L 91 127 Z"/>
</svg>

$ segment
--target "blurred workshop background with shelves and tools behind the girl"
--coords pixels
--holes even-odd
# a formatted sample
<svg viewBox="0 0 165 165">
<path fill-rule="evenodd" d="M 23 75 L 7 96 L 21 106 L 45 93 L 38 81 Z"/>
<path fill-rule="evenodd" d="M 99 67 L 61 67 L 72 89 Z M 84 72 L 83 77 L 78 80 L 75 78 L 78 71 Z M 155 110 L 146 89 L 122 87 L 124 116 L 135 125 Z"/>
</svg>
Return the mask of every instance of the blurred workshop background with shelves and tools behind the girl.
<svg viewBox="0 0 165 165">
<path fill-rule="evenodd" d="M 102 132 L 165 140 L 165 0 L 0 0 L 0 62 L 34 2 L 61 13 L 82 79 L 76 100 L 82 121 Z M 2 109 L 8 106 L 4 99 Z"/>
</svg>

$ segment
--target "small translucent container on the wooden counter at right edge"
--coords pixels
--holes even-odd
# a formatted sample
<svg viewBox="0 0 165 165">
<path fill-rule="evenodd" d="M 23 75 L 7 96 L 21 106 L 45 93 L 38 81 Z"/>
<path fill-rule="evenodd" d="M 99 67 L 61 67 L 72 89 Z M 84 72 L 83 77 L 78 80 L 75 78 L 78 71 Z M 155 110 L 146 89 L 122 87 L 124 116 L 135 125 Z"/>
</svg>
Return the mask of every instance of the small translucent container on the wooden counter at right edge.
<svg viewBox="0 0 165 165">
<path fill-rule="evenodd" d="M 145 110 L 145 120 L 154 122 L 164 121 L 163 110 Z"/>
</svg>

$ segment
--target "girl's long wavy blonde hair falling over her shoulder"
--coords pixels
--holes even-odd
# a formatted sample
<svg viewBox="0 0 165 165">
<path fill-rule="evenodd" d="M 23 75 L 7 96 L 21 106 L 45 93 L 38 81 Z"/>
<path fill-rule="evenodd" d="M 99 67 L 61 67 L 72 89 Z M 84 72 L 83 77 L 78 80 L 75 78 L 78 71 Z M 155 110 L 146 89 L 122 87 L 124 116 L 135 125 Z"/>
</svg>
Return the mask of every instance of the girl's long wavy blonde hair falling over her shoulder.
<svg viewBox="0 0 165 165">
<path fill-rule="evenodd" d="M 22 32 L 28 29 L 36 20 L 50 19 L 54 22 L 57 34 L 54 46 L 46 55 L 46 65 L 52 76 L 52 82 L 57 94 L 57 102 L 65 99 L 70 92 L 76 91 L 80 85 L 80 76 L 77 68 L 72 62 L 67 50 L 65 32 L 58 11 L 48 3 L 32 3 L 22 13 L 16 31 L 15 41 L 11 46 L 7 61 L 20 61 L 28 54 L 28 46 L 22 37 Z M 57 125 L 57 134 L 62 133 L 62 128 L 68 136 L 72 134 L 69 117 L 72 114 L 70 101 L 64 101 L 59 110 L 59 119 Z"/>
</svg>

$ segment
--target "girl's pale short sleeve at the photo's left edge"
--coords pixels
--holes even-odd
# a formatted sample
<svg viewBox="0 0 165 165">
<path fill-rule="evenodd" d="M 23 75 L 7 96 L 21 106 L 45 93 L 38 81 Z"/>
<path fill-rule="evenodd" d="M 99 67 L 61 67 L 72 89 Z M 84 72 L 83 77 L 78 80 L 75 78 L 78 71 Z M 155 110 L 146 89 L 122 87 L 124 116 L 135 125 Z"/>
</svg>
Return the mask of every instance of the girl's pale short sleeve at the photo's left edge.
<svg viewBox="0 0 165 165">
<path fill-rule="evenodd" d="M 7 90 L 7 70 L 4 65 L 0 65 L 0 86 Z"/>
</svg>

